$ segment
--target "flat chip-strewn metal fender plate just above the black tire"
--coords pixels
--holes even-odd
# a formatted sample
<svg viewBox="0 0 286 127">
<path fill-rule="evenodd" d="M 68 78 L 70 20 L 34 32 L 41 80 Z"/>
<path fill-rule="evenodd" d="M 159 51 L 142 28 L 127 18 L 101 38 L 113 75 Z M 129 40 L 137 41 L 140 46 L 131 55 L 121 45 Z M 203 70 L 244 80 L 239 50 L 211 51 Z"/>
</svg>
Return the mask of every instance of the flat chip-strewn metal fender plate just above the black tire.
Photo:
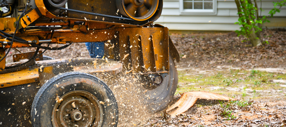
<svg viewBox="0 0 286 127">
<path fill-rule="evenodd" d="M 38 64 L 41 64 L 38 68 L 40 85 L 43 85 L 49 79 L 60 73 L 70 71 L 79 71 L 89 74 L 106 73 L 114 75 L 122 70 L 122 64 L 119 62 L 92 58 L 39 61 Z"/>
</svg>

